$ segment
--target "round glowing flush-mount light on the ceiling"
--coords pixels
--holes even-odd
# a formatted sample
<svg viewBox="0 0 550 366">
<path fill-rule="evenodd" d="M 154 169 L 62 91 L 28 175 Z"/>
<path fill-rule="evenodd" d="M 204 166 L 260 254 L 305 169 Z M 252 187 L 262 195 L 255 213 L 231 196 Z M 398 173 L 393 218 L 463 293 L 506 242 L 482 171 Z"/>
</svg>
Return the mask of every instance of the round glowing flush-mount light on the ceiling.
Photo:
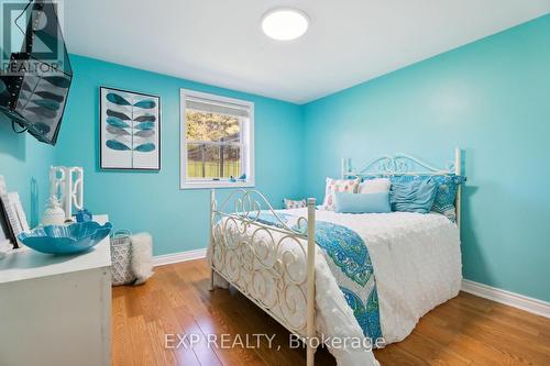
<svg viewBox="0 0 550 366">
<path fill-rule="evenodd" d="M 277 41 L 290 41 L 302 36 L 309 26 L 305 12 L 292 8 L 270 10 L 262 18 L 262 30 L 265 35 Z"/>
</svg>

